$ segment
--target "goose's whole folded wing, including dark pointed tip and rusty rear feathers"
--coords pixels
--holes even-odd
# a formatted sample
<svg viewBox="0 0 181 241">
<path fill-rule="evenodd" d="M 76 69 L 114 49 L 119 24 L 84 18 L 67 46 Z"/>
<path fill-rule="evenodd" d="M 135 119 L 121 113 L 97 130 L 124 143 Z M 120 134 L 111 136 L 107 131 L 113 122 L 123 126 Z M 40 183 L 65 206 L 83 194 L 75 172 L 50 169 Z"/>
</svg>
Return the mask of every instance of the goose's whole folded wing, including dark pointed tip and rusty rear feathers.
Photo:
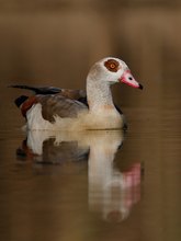
<svg viewBox="0 0 181 241">
<path fill-rule="evenodd" d="M 42 115 L 46 120 L 54 122 L 55 116 L 61 118 L 77 117 L 88 110 L 86 91 L 68 90 L 54 87 L 34 88 L 30 85 L 11 85 L 12 88 L 33 91 L 33 95 L 21 95 L 14 102 L 21 108 L 23 116 L 35 104 L 42 105 Z"/>
</svg>

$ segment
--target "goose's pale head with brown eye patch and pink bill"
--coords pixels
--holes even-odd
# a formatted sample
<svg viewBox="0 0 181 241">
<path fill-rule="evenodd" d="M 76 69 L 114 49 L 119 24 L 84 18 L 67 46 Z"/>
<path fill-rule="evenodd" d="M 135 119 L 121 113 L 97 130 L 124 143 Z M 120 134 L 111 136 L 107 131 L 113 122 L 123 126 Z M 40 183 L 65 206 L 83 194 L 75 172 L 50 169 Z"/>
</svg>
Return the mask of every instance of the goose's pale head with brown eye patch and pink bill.
<svg viewBox="0 0 181 241">
<path fill-rule="evenodd" d="M 90 69 L 88 79 L 106 82 L 110 85 L 120 82 L 133 88 L 143 89 L 143 85 L 132 76 L 127 65 L 114 57 L 103 58 L 95 62 Z"/>
</svg>

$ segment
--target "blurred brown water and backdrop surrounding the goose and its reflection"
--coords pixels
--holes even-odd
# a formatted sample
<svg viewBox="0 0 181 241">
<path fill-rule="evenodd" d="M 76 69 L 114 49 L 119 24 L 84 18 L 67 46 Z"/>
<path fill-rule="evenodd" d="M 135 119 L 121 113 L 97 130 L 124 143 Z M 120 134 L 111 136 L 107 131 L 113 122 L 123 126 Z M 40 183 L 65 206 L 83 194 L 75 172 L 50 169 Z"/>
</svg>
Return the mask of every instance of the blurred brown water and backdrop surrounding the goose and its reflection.
<svg viewBox="0 0 181 241">
<path fill-rule="evenodd" d="M 87 171 L 59 179 L 57 168 L 14 164 L 24 119 L 13 100 L 25 92 L 7 88 L 84 89 L 105 56 L 123 59 L 144 85 L 113 87 L 128 122 L 118 167 L 146 170 L 142 202 L 122 226 L 88 215 Z M 0 0 L 2 240 L 180 240 L 180 0 Z"/>
</svg>

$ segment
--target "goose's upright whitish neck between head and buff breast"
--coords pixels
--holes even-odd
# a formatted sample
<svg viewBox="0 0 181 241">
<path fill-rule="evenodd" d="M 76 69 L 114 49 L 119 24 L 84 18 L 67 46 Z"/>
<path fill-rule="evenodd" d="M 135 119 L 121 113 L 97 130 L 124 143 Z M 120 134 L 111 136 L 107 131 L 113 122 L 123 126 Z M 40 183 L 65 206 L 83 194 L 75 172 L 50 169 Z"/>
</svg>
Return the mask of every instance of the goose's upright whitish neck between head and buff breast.
<svg viewBox="0 0 181 241">
<path fill-rule="evenodd" d="M 97 112 L 101 108 L 114 108 L 110 84 L 106 81 L 88 76 L 87 96 L 90 112 Z"/>
</svg>

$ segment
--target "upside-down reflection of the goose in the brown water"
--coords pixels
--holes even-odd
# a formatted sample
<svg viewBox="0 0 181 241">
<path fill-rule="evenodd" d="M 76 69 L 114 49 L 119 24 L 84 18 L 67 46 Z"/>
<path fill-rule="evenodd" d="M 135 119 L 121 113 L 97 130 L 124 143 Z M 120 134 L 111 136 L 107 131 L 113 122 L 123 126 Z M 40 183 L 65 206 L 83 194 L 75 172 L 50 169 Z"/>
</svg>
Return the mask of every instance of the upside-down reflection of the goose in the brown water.
<svg viewBox="0 0 181 241">
<path fill-rule="evenodd" d="M 104 220 L 125 220 L 140 199 L 142 165 L 136 162 L 124 172 L 115 160 L 124 140 L 122 130 L 100 130 L 58 134 L 29 131 L 16 150 L 21 160 L 61 164 L 88 161 L 89 209 Z"/>
</svg>

